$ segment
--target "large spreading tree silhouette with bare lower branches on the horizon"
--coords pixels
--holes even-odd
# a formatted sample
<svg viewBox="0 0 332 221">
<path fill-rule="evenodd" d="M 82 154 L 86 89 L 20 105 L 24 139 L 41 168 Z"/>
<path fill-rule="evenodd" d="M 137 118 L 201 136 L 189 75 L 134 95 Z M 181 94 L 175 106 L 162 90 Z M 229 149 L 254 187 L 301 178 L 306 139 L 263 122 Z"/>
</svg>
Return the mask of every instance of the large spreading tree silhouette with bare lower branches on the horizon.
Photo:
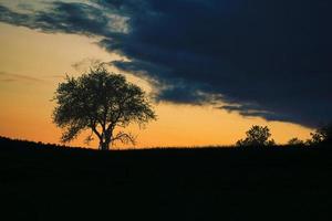
<svg viewBox="0 0 332 221">
<path fill-rule="evenodd" d="M 56 106 L 53 123 L 62 128 L 61 140 L 68 143 L 86 129 L 100 140 L 100 149 L 107 150 L 115 141 L 135 144 L 135 137 L 115 128 L 131 123 L 145 125 L 156 115 L 138 86 L 123 75 L 107 72 L 103 65 L 90 69 L 77 78 L 66 76 L 54 95 Z"/>
</svg>

